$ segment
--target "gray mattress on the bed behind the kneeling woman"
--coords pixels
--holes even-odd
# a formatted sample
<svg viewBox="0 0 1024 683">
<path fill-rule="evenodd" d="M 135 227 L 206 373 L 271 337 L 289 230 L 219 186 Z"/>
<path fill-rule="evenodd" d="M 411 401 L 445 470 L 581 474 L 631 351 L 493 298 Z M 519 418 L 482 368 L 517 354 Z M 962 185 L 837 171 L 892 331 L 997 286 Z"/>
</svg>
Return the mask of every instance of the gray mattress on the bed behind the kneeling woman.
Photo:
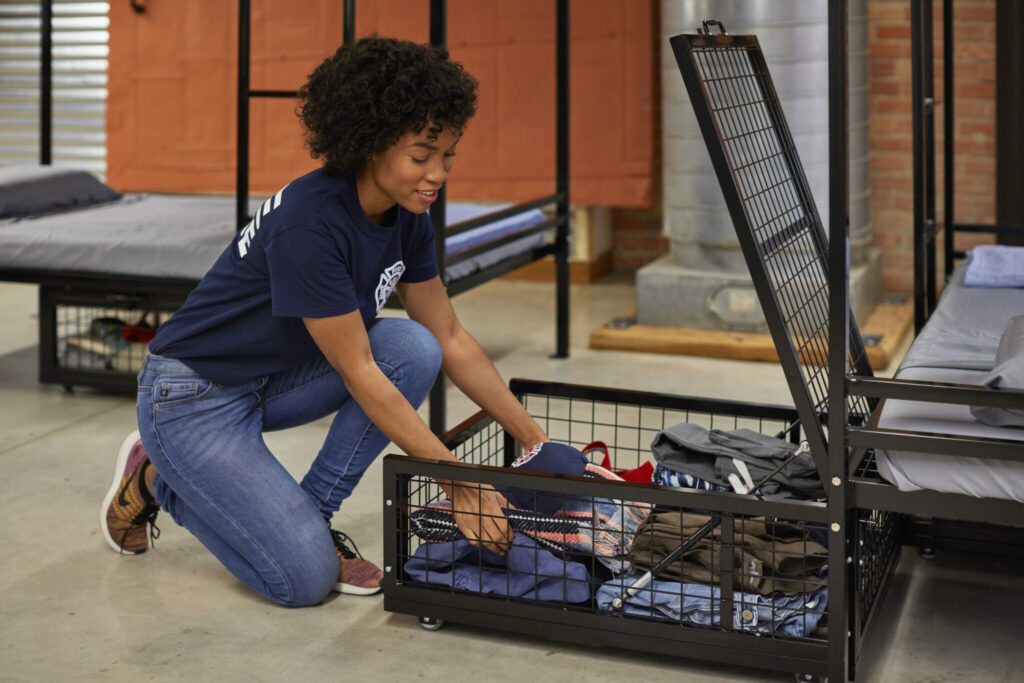
<svg viewBox="0 0 1024 683">
<path fill-rule="evenodd" d="M 460 204 L 449 205 L 455 208 L 449 213 L 459 220 L 496 210 L 493 205 Z M 524 212 L 503 221 L 503 229 L 520 229 L 543 219 L 540 211 Z M 477 229 L 488 228 L 494 230 L 488 225 Z M 198 281 L 233 234 L 233 198 L 133 195 L 88 209 L 0 222 L 0 271 Z M 480 254 L 457 264 L 449 280 L 532 249 L 543 240 L 543 234 L 535 234 Z"/>
</svg>

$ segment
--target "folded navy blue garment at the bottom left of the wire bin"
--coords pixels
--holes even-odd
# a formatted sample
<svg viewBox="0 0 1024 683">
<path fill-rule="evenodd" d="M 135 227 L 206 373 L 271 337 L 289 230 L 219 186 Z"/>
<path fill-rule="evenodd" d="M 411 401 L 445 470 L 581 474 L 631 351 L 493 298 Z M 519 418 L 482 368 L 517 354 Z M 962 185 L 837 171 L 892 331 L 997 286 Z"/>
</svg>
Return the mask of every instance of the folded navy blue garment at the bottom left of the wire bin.
<svg viewBox="0 0 1024 683">
<path fill-rule="evenodd" d="M 473 593 L 558 602 L 590 599 L 590 575 L 583 564 L 559 559 L 522 535 L 516 535 L 504 555 L 465 539 L 426 543 L 404 569 L 414 581 Z"/>
</svg>

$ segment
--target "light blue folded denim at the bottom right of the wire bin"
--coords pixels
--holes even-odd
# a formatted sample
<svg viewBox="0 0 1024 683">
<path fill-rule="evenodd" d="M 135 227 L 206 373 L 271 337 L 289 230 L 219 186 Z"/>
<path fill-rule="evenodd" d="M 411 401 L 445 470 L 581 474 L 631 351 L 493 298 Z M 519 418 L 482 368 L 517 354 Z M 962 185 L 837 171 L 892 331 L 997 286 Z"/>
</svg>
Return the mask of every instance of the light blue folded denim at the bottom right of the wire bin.
<svg viewBox="0 0 1024 683">
<path fill-rule="evenodd" d="M 612 601 L 637 579 L 631 571 L 597 589 L 597 606 L 611 610 Z M 719 626 L 722 592 L 717 586 L 653 580 L 628 597 L 623 611 L 701 626 Z M 733 591 L 732 628 L 752 633 L 806 637 L 814 633 L 828 606 L 828 591 L 774 593 L 770 596 Z"/>
</svg>

